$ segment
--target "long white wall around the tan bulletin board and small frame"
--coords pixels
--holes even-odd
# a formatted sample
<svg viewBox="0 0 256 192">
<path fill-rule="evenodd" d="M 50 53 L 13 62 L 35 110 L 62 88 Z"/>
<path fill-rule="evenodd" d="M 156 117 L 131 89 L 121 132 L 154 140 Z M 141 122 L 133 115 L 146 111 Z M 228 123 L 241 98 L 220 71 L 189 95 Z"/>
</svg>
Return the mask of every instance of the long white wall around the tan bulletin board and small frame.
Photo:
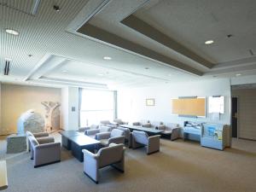
<svg viewBox="0 0 256 192">
<path fill-rule="evenodd" d="M 118 118 L 129 122 L 141 119 L 172 122 L 183 125 L 184 120 L 212 122 L 207 118 L 183 118 L 172 115 L 171 99 L 178 96 L 224 96 L 224 114 L 216 123 L 230 124 L 230 80 L 204 80 L 154 87 L 118 90 Z M 146 106 L 147 98 L 154 98 L 155 106 Z"/>
</svg>

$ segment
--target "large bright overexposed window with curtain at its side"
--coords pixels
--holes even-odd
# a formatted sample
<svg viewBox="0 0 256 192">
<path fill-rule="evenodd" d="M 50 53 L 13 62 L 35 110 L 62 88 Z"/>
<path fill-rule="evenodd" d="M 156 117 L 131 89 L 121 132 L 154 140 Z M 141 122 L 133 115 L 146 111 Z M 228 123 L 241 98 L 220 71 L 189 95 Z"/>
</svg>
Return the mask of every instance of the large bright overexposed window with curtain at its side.
<svg viewBox="0 0 256 192">
<path fill-rule="evenodd" d="M 113 120 L 115 116 L 115 92 L 108 90 L 80 90 L 80 126 L 99 124 L 101 120 Z"/>
</svg>

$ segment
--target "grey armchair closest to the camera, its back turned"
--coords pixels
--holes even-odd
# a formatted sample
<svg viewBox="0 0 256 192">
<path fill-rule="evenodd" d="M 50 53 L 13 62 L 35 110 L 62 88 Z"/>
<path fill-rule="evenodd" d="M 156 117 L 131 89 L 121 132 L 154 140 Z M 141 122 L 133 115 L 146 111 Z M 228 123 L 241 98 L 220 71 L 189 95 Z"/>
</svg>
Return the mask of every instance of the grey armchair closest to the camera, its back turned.
<svg viewBox="0 0 256 192">
<path fill-rule="evenodd" d="M 110 143 L 108 147 L 101 148 L 97 154 L 83 149 L 84 173 L 95 183 L 99 182 L 99 170 L 105 166 L 113 166 L 120 172 L 125 171 L 125 148 L 123 144 Z"/>
</svg>

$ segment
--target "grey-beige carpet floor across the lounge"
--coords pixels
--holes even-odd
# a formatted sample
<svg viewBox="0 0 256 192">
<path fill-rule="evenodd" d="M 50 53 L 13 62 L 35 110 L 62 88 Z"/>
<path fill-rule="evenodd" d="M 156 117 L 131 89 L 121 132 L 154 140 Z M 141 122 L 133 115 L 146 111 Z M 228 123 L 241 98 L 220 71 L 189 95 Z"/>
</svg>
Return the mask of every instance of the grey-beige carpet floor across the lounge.
<svg viewBox="0 0 256 192">
<path fill-rule="evenodd" d="M 54 134 L 55 139 L 61 137 Z M 175 191 L 255 192 L 256 142 L 233 140 L 219 151 L 199 143 L 160 141 L 160 153 L 145 148 L 125 151 L 125 173 L 106 167 L 99 184 L 83 173 L 83 163 L 62 148 L 61 163 L 33 168 L 28 152 L 5 154 L 0 137 L 0 158 L 7 160 L 9 188 L 4 192 Z"/>
</svg>

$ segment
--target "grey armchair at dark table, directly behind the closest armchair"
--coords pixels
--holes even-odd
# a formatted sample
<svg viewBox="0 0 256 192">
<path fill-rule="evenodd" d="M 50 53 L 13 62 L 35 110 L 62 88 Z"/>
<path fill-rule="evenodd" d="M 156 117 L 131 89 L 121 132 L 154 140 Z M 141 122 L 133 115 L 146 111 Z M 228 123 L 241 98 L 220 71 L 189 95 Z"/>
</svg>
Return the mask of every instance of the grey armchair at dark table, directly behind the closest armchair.
<svg viewBox="0 0 256 192">
<path fill-rule="evenodd" d="M 96 134 L 96 140 L 102 143 L 102 146 L 107 147 L 110 143 L 125 143 L 125 131 L 113 129 L 111 132 L 100 132 Z"/>
</svg>

